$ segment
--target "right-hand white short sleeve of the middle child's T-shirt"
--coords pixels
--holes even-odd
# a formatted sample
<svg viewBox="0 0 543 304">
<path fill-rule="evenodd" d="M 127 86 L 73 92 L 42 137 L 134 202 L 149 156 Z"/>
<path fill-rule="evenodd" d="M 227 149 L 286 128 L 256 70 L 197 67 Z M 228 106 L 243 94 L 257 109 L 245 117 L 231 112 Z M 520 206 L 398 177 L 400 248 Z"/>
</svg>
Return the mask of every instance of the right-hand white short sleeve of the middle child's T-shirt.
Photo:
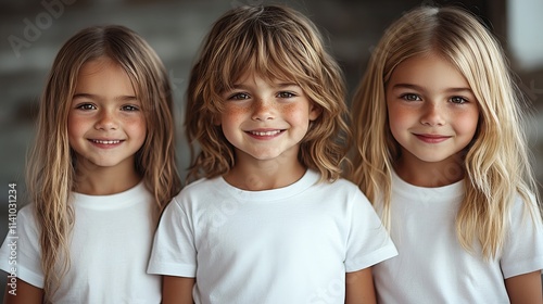
<svg viewBox="0 0 543 304">
<path fill-rule="evenodd" d="M 358 190 L 352 202 L 345 269 L 357 271 L 397 255 L 381 219 Z"/>
</svg>

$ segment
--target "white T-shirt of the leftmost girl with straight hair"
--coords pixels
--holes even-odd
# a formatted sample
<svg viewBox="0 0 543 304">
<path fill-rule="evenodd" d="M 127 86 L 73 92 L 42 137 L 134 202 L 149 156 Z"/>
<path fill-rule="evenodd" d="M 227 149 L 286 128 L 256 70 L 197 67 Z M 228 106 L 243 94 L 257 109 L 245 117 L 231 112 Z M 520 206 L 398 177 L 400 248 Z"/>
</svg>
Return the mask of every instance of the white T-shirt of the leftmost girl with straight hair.
<svg viewBox="0 0 543 304">
<path fill-rule="evenodd" d="M 71 268 L 53 303 L 160 303 L 161 277 L 146 273 L 153 231 L 154 201 L 143 183 L 113 195 L 74 193 Z M 17 277 L 43 288 L 39 229 L 33 204 L 17 216 Z M 10 271 L 10 238 L 0 249 L 0 268 Z"/>
</svg>

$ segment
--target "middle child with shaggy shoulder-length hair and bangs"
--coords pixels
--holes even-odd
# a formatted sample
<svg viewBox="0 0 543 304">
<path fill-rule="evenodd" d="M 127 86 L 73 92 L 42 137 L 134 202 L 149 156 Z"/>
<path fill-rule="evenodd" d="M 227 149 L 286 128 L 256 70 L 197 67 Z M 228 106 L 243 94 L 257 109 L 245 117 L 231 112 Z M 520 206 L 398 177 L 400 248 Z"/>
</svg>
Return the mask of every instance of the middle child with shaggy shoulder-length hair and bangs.
<svg viewBox="0 0 543 304">
<path fill-rule="evenodd" d="M 315 25 L 280 5 L 228 11 L 187 103 L 199 180 L 156 230 L 148 271 L 165 276 L 164 303 L 374 303 L 370 268 L 396 252 L 340 179 L 343 76 Z"/>
</svg>

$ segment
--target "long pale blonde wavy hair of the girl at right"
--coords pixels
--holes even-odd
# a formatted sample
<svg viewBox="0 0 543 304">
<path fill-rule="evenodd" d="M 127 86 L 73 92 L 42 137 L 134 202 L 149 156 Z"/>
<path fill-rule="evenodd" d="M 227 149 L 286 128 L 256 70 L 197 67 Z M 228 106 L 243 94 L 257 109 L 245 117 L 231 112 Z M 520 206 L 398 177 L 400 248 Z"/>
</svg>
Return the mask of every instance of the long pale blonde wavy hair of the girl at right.
<svg viewBox="0 0 543 304">
<path fill-rule="evenodd" d="M 434 53 L 453 64 L 479 101 L 472 142 L 459 164 L 466 193 L 456 216 L 462 245 L 479 242 L 485 258 L 504 245 L 517 194 L 532 218 L 539 199 L 523 131 L 522 94 L 513 80 L 500 43 L 471 13 L 458 8 L 417 8 L 393 23 L 374 51 L 353 100 L 356 147 L 350 175 L 371 202 L 382 200 L 390 227 L 391 172 L 400 156 L 387 116 L 384 91 L 394 68 L 408 58 Z"/>
</svg>

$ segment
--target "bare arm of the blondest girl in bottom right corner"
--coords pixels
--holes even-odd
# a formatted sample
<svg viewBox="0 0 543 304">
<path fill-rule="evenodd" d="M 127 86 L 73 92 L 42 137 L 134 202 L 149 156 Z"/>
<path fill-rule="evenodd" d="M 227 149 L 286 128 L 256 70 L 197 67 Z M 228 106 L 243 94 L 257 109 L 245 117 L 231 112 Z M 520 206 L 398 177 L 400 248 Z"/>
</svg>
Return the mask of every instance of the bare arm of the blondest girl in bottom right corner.
<svg viewBox="0 0 543 304">
<path fill-rule="evenodd" d="M 540 270 L 505 279 L 505 288 L 512 304 L 543 303 Z"/>
</svg>

